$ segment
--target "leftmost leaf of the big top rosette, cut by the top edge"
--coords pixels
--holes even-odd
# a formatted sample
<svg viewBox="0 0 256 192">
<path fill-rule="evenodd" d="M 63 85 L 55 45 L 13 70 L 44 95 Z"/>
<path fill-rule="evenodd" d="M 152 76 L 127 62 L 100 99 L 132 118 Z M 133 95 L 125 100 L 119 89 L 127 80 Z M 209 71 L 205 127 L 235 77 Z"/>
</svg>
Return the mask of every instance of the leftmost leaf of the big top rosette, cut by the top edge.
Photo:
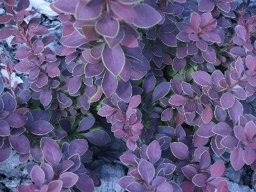
<svg viewBox="0 0 256 192">
<path fill-rule="evenodd" d="M 53 7 L 60 12 L 73 15 L 76 12 L 77 2 L 77 0 L 73 2 L 68 0 L 58 0 L 55 3 L 53 3 Z"/>
</svg>

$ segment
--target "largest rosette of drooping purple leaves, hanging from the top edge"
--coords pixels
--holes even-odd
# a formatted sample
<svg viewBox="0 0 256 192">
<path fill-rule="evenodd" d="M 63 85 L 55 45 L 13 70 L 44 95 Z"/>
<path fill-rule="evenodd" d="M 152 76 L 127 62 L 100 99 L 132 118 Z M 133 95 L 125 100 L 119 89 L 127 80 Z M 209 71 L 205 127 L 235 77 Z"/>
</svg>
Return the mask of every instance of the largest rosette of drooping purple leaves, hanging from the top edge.
<svg viewBox="0 0 256 192">
<path fill-rule="evenodd" d="M 162 17 L 147 4 L 135 4 L 140 1 L 70 1 L 59 0 L 52 4 L 57 12 L 74 15 L 73 26 L 76 31 L 71 36 L 85 36 L 80 42 L 104 40 L 100 46 L 94 46 L 93 56 L 101 57 L 104 67 L 115 77 L 125 67 L 125 51 L 120 47 L 138 47 L 140 35 L 131 25 L 150 28 Z M 142 12 L 143 10 L 143 12 Z M 150 13 L 150 17 L 148 14 Z M 147 16 L 146 16 L 147 15 Z M 78 41 L 78 40 L 77 40 Z M 113 54 L 115 52 L 115 54 Z"/>
</svg>

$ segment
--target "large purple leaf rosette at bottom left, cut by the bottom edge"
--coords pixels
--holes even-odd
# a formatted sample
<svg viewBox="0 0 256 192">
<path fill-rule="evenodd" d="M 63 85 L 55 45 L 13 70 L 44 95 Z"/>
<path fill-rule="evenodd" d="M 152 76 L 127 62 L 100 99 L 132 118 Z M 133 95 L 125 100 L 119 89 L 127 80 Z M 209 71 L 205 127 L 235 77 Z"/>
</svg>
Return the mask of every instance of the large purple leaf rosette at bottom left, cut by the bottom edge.
<svg viewBox="0 0 256 192">
<path fill-rule="evenodd" d="M 97 177 L 84 168 L 84 162 L 92 156 L 87 150 L 86 140 L 63 143 L 60 147 L 56 141 L 42 138 L 38 155 L 43 159 L 40 166 L 35 163 L 27 165 L 27 170 L 35 184 L 20 185 L 17 190 L 25 191 L 94 191 L 94 184 L 99 184 Z"/>
</svg>

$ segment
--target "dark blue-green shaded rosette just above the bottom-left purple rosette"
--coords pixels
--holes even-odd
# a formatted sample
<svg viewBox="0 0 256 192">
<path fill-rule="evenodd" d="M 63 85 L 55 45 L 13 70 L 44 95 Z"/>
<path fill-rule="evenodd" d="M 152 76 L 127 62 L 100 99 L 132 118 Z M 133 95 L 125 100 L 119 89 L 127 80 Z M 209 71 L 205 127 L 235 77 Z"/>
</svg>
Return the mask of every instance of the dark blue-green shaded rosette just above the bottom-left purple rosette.
<svg viewBox="0 0 256 192">
<path fill-rule="evenodd" d="M 67 132 L 67 138 L 69 140 L 86 138 L 94 145 L 105 145 L 106 143 L 109 143 L 110 138 L 108 133 L 100 130 L 99 127 L 93 127 L 94 122 L 95 118 L 87 116 L 81 120 L 78 126 L 74 125 L 74 121 L 72 121 L 73 124 L 71 124 L 70 120 L 67 118 L 59 120 L 58 124 L 60 124 L 61 129 Z M 61 131 L 61 129 L 58 130 Z"/>
</svg>

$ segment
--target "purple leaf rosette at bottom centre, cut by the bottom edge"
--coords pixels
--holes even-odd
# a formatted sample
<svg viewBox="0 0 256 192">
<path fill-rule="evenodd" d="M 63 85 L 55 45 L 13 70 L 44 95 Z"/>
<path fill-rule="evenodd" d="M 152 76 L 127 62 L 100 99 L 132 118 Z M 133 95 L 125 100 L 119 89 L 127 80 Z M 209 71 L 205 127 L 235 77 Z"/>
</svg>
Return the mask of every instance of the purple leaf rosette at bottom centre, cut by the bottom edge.
<svg viewBox="0 0 256 192">
<path fill-rule="evenodd" d="M 175 164 L 161 157 L 161 147 L 157 141 L 142 145 L 140 154 L 129 150 L 120 156 L 120 160 L 130 166 L 128 175 L 118 184 L 125 190 L 135 191 L 182 191 L 172 179 Z"/>
</svg>

